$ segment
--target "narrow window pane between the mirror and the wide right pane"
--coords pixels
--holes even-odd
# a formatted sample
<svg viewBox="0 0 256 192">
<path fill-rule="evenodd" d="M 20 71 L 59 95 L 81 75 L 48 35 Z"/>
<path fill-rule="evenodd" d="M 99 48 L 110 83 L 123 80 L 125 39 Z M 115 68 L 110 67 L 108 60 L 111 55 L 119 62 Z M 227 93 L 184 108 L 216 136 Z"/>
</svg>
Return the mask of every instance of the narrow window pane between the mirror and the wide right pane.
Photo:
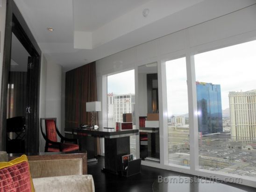
<svg viewBox="0 0 256 192">
<path fill-rule="evenodd" d="M 190 166 L 185 57 L 166 62 L 169 164 Z"/>
</svg>

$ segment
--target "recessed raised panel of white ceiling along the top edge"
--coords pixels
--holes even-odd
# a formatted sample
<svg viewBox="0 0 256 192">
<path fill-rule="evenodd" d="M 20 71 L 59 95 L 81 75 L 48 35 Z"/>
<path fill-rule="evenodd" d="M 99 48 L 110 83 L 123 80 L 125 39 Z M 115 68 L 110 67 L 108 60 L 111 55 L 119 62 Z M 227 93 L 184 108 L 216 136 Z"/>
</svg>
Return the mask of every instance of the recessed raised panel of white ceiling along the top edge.
<svg viewBox="0 0 256 192">
<path fill-rule="evenodd" d="M 92 32 L 150 0 L 74 0 L 76 31 Z"/>
</svg>

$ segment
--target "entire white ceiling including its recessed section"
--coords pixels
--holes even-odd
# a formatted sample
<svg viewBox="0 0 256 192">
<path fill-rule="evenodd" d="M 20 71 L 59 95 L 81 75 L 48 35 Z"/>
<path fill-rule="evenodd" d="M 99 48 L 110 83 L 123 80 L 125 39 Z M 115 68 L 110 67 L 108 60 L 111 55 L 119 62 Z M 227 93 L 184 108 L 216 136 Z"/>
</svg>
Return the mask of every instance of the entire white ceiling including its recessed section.
<svg viewBox="0 0 256 192">
<path fill-rule="evenodd" d="M 14 0 L 49 63 L 64 71 L 211 20 L 255 0 Z M 143 9 L 149 9 L 147 17 Z M 54 32 L 47 30 L 54 28 Z"/>
</svg>

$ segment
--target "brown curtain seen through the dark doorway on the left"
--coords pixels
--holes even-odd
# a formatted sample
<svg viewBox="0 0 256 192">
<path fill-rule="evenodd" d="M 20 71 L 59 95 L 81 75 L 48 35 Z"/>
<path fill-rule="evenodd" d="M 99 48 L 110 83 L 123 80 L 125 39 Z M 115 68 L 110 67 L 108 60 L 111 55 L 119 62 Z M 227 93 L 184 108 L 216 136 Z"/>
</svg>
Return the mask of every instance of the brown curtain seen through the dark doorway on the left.
<svg viewBox="0 0 256 192">
<path fill-rule="evenodd" d="M 27 72 L 10 71 L 7 118 L 26 115 Z"/>
</svg>

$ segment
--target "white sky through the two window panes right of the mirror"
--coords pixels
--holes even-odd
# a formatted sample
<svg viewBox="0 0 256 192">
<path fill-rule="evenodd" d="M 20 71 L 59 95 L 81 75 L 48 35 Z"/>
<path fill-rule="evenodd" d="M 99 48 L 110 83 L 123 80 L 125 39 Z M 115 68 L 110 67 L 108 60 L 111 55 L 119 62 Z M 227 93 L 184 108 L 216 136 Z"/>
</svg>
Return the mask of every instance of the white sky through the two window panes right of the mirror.
<svg viewBox="0 0 256 192">
<path fill-rule="evenodd" d="M 228 93 L 256 89 L 256 41 L 195 55 L 196 81 L 219 84 L 222 110 Z M 168 115 L 187 114 L 185 57 L 166 62 Z"/>
</svg>

